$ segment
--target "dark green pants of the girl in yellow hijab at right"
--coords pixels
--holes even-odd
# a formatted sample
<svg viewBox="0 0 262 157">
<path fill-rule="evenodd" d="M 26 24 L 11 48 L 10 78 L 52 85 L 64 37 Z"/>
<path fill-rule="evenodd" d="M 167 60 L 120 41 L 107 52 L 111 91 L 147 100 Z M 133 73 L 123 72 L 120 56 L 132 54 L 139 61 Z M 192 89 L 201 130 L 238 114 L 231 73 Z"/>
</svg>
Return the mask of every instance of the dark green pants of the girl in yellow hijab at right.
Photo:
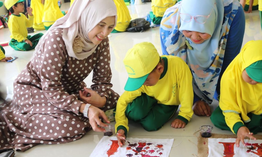
<svg viewBox="0 0 262 157">
<path fill-rule="evenodd" d="M 262 116 L 261 115 L 255 115 L 253 113 L 248 113 L 247 116 L 251 119 L 250 122 L 245 123 L 244 125 L 249 129 L 250 132 L 253 132 L 254 134 L 258 132 L 262 132 Z M 241 115 L 240 115 L 241 117 Z M 226 124 L 225 116 L 223 115 L 222 110 L 218 106 L 214 112 L 212 113 L 210 117 L 212 123 L 220 128 L 221 130 L 230 130 L 230 128 Z M 241 118 L 242 120 L 242 118 Z M 243 120 L 242 120 L 243 121 Z"/>
</svg>

